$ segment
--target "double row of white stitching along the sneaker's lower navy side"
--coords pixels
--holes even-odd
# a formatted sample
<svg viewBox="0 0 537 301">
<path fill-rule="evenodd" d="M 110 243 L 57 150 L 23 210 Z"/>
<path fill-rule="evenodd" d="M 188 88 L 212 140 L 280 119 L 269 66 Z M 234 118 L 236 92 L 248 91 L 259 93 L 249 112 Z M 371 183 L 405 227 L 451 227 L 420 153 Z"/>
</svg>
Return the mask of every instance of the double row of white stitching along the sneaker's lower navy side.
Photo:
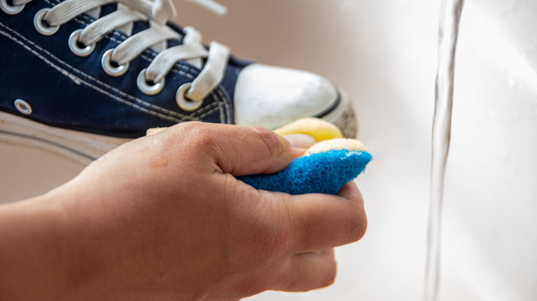
<svg viewBox="0 0 537 301">
<path fill-rule="evenodd" d="M 34 45 L 34 47 L 36 47 L 37 49 L 39 49 L 41 52 L 45 52 L 46 54 L 48 54 L 49 56 L 51 56 L 52 58 L 54 58 L 56 61 L 58 61 L 59 63 L 65 65 L 66 67 L 72 69 L 73 71 L 76 71 L 78 74 L 81 74 L 82 76 L 85 76 L 86 78 L 88 78 L 89 80 L 92 80 L 94 82 L 98 82 L 99 84 L 103 85 L 104 87 L 107 87 L 108 89 L 112 89 L 112 91 L 115 91 L 116 93 L 119 93 L 123 96 L 127 96 L 127 98 L 130 98 L 132 100 L 135 100 L 136 102 L 138 103 L 142 103 L 142 104 L 145 104 L 146 107 L 150 107 L 151 109 L 158 109 L 160 111 L 165 111 L 166 113 L 171 113 L 171 115 L 176 115 L 178 116 L 180 119 L 178 118 L 173 118 L 171 116 L 167 116 L 167 115 L 164 115 L 162 113 L 156 113 L 156 112 L 153 112 L 153 111 L 149 111 L 147 109 L 143 109 L 143 107 L 140 107 L 139 105 L 137 104 L 134 104 L 132 102 L 127 102 L 126 100 L 123 100 L 122 98 L 118 98 L 117 96 L 113 96 L 112 94 L 110 94 L 109 92 L 107 91 L 104 91 L 98 87 L 95 87 L 94 85 L 90 84 L 89 82 L 85 82 L 85 85 L 88 85 L 89 87 L 92 87 L 98 91 L 100 91 L 101 93 L 105 93 L 107 96 L 113 98 L 114 100 L 118 100 L 124 104 L 128 104 L 130 105 L 131 107 L 134 107 L 136 109 L 140 109 L 141 111 L 144 111 L 145 113 L 151 113 L 151 115 L 156 115 L 160 118 L 165 118 L 167 120 L 171 120 L 173 122 L 183 122 L 185 120 L 199 120 L 201 118 L 204 118 L 205 116 L 209 115 L 209 112 L 207 113 L 204 113 L 200 116 L 198 116 L 197 118 L 194 116 L 194 115 L 182 115 L 180 113 L 177 113 L 177 112 L 173 112 L 173 111 L 169 111 L 167 109 L 164 109 L 162 107 L 158 107 L 156 106 L 155 104 L 150 104 L 148 102 L 144 102 L 143 100 L 140 100 L 134 96 L 131 96 L 123 91 L 120 91 L 114 87 L 111 87 L 107 84 L 105 84 L 104 82 L 101 82 L 100 80 L 97 80 L 96 78 L 93 78 L 92 76 L 89 76 L 88 74 L 85 74 L 84 72 L 72 67 L 71 65 L 63 62 L 63 60 L 60 60 L 59 58 L 57 58 L 56 56 L 54 56 L 53 54 L 51 54 L 50 52 L 48 52 L 47 50 L 43 49 L 42 47 L 39 47 L 38 45 L 36 45 L 34 42 L 28 40 L 28 38 L 25 38 L 24 36 L 22 36 L 21 34 L 19 34 L 18 32 L 12 30 L 10 27 L 7 27 L 6 25 L 3 25 L 2 23 L 0 23 L 0 25 L 2 27 L 5 27 L 7 30 L 10 30 L 11 32 L 13 32 L 14 34 L 17 34 L 17 36 L 20 36 L 21 38 L 23 38 L 25 41 L 28 41 L 28 43 L 31 43 L 32 45 Z M 6 33 L 7 34 L 7 33 Z M 8 35 L 10 36 L 10 35 Z M 12 39 L 14 39 L 14 41 L 18 41 L 17 38 L 14 38 L 12 36 L 10 36 Z M 21 45 L 24 45 L 24 43 L 21 42 Z M 26 47 L 28 50 L 30 50 L 32 53 L 38 55 L 40 58 L 42 58 L 43 60 L 45 60 L 46 63 L 48 63 L 49 65 L 52 65 L 53 67 L 56 67 L 56 65 L 54 65 L 52 62 L 50 62 L 50 60 L 47 60 L 46 58 L 44 58 L 43 56 L 37 54 L 36 52 L 32 51 L 29 47 Z M 76 76 L 72 75 L 69 73 L 69 71 L 65 70 L 65 69 L 61 69 L 60 67 L 56 67 L 56 69 L 59 69 L 59 71 L 61 71 L 62 74 L 64 74 L 65 76 L 71 78 L 72 80 L 75 80 L 74 78 L 76 78 Z M 74 77 L 74 78 L 73 78 Z M 80 80 L 80 79 L 78 79 Z M 213 104 L 209 104 L 208 106 L 204 107 L 203 109 L 200 109 L 200 110 L 207 110 L 209 109 L 209 107 L 212 107 Z M 212 111 L 212 110 L 211 110 Z M 224 120 L 221 120 L 221 122 L 223 122 Z"/>
</svg>

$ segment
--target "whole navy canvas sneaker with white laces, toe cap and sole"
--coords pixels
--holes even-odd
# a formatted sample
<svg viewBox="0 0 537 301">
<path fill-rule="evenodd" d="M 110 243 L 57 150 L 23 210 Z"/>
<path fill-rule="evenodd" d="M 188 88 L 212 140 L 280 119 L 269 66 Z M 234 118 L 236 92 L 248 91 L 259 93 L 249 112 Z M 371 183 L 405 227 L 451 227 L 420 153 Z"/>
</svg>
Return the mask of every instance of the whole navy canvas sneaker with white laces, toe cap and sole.
<svg viewBox="0 0 537 301">
<path fill-rule="evenodd" d="M 192 27 L 169 22 L 171 0 L 0 0 L 0 8 L 0 142 L 87 163 L 149 128 L 189 120 L 275 129 L 313 116 L 356 134 L 350 102 L 330 82 L 203 45 Z"/>
</svg>

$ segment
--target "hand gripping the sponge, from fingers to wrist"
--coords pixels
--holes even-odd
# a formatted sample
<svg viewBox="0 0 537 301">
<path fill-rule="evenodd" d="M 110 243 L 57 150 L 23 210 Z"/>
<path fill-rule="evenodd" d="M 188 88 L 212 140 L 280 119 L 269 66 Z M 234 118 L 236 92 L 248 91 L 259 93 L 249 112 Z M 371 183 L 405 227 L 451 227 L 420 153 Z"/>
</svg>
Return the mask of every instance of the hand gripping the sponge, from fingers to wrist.
<svg viewBox="0 0 537 301">
<path fill-rule="evenodd" d="M 238 300 L 330 285 L 332 248 L 366 230 L 355 184 L 291 196 L 235 179 L 282 170 L 302 151 L 268 129 L 197 122 L 112 150 L 36 200 L 63 214 L 51 222 L 68 250 L 53 294 Z"/>
</svg>

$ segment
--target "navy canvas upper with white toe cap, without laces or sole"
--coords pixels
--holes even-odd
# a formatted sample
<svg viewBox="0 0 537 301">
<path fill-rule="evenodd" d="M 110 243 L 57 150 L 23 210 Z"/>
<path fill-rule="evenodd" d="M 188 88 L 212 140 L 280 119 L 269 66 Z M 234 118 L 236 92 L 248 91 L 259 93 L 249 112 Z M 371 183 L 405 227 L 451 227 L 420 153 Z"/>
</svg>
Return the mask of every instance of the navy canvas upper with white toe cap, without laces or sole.
<svg viewBox="0 0 537 301">
<path fill-rule="evenodd" d="M 0 11 L 0 111 L 63 129 L 134 138 L 149 128 L 191 120 L 275 128 L 298 118 L 323 117 L 339 105 L 339 92 L 320 76 L 230 55 L 218 85 L 200 100 L 198 109 L 185 111 L 178 105 L 178 89 L 200 76 L 206 57 L 199 66 L 191 60 L 174 63 L 162 91 L 147 95 L 136 82 L 159 54 L 158 47 L 148 47 L 129 60 L 121 76 L 107 74 L 101 61 L 107 50 L 147 30 L 150 22 L 154 26 L 153 21 L 136 21 L 128 33 L 112 30 L 94 43 L 91 54 L 77 56 L 68 47 L 71 34 L 112 14 L 118 5 L 109 3 L 97 12 L 73 16 L 50 36 L 39 33 L 36 13 L 62 2 L 33 0 L 17 14 Z M 167 26 L 185 36 L 182 27 L 169 22 Z M 160 51 L 182 43 L 180 38 L 170 39 Z"/>
</svg>

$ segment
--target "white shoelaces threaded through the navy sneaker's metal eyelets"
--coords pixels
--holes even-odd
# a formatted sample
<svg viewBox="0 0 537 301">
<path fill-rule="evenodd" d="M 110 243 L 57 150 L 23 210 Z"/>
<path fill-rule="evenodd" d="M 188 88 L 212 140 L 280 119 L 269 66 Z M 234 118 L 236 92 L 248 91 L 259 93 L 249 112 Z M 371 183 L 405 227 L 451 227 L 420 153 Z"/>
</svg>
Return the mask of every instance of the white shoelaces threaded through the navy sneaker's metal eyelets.
<svg viewBox="0 0 537 301">
<path fill-rule="evenodd" d="M 13 4 L 23 5 L 31 1 L 13 0 Z M 215 14 L 221 15 L 227 12 L 227 8 L 213 0 L 184 1 L 197 3 Z M 178 32 L 167 27 L 166 22 L 176 15 L 172 0 L 65 0 L 47 12 L 43 20 L 50 26 L 59 26 L 85 12 L 88 14 L 93 12 L 92 15 L 98 16 L 101 6 L 108 3 L 118 3 L 118 9 L 87 25 L 78 37 L 78 42 L 87 46 L 93 45 L 112 30 L 132 28 L 132 24 L 136 21 L 149 21 L 147 30 L 130 36 L 114 49 L 112 61 L 118 65 L 125 65 L 145 49 L 154 47 L 161 51 L 145 71 L 147 82 L 159 82 L 179 60 L 185 60 L 202 68 L 186 93 L 189 100 L 204 99 L 220 84 L 229 60 L 229 49 L 220 43 L 211 42 L 207 51 L 202 45 L 200 32 L 193 27 L 185 27 L 185 36 L 180 36 Z M 170 39 L 182 40 L 182 45 L 166 49 L 165 43 Z M 204 66 L 202 66 L 203 58 L 207 58 Z"/>
</svg>

